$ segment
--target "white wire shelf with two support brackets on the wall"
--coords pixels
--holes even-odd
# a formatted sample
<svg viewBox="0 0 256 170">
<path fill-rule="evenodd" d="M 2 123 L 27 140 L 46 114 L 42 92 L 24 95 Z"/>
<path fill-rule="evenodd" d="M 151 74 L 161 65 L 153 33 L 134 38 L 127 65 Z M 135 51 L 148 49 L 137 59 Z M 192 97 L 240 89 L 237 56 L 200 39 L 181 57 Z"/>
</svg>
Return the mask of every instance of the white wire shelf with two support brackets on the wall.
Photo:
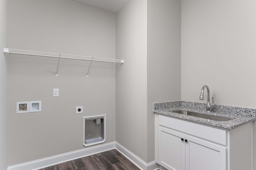
<svg viewBox="0 0 256 170">
<path fill-rule="evenodd" d="M 124 60 L 120 60 L 120 59 L 107 59 L 107 58 L 99 58 L 99 57 L 88 57 L 88 56 L 82 56 L 82 55 L 49 53 L 49 52 L 29 51 L 29 50 L 20 50 L 20 49 L 4 48 L 4 53 L 58 58 L 59 60 L 58 60 L 56 76 L 58 76 L 60 59 L 73 59 L 73 60 L 91 61 L 89 69 L 88 69 L 87 74 L 86 74 L 86 77 L 88 77 L 92 61 L 106 62 L 106 63 L 124 63 Z"/>
</svg>

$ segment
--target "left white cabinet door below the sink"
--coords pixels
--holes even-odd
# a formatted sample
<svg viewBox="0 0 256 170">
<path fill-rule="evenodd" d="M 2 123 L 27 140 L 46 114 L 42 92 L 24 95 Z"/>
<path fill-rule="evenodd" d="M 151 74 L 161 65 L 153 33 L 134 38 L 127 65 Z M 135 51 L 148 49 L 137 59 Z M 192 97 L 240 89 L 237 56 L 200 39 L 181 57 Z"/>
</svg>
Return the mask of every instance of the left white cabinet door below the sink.
<svg viewBox="0 0 256 170">
<path fill-rule="evenodd" d="M 161 126 L 158 135 L 159 164 L 168 170 L 185 170 L 185 135 Z"/>
</svg>

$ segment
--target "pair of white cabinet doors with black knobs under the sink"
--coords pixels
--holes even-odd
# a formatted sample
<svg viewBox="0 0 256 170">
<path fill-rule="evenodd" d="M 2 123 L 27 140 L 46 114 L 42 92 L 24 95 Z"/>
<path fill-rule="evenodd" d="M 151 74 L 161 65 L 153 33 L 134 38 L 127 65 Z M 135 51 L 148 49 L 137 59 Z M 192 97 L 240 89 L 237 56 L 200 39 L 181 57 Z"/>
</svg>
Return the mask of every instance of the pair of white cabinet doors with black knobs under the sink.
<svg viewBox="0 0 256 170">
<path fill-rule="evenodd" d="M 158 164 L 169 170 L 226 170 L 226 147 L 159 127 Z"/>
</svg>

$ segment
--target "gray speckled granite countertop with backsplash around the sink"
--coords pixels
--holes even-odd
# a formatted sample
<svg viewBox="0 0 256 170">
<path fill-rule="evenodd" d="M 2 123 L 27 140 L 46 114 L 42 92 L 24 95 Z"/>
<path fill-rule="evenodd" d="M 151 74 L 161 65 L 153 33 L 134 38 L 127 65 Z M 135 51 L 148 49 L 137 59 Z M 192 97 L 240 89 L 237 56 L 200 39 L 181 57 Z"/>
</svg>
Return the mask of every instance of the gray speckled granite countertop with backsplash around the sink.
<svg viewBox="0 0 256 170">
<path fill-rule="evenodd" d="M 227 118 L 231 118 L 231 120 L 214 121 L 214 120 L 208 120 L 208 119 L 204 119 L 204 118 L 200 118 L 200 117 L 183 115 L 183 114 L 173 112 L 173 111 L 178 111 L 178 110 L 194 111 L 194 112 L 198 112 L 198 113 L 202 113 L 202 114 L 227 117 Z M 206 125 L 222 127 L 225 129 L 234 129 L 236 127 L 242 126 L 251 121 L 255 121 L 256 120 L 255 110 L 256 109 L 245 108 L 245 107 L 215 105 L 212 108 L 211 112 L 207 113 L 205 103 L 176 101 L 176 102 L 162 102 L 162 103 L 154 103 L 153 104 L 154 113 L 168 115 L 171 117 L 185 119 L 188 121 L 203 123 Z"/>
</svg>

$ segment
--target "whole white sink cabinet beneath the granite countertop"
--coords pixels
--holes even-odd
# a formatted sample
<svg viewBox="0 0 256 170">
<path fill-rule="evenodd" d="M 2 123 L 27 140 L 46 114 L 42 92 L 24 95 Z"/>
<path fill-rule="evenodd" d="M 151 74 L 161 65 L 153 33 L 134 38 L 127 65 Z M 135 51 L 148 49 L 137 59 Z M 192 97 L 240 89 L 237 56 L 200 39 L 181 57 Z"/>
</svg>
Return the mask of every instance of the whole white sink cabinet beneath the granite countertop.
<svg viewBox="0 0 256 170">
<path fill-rule="evenodd" d="M 236 132 L 156 114 L 156 162 L 168 170 L 249 168 L 251 138 L 245 130 L 250 131 L 250 123 Z M 240 145 L 240 137 L 246 139 L 242 142 L 246 146 Z"/>
</svg>

